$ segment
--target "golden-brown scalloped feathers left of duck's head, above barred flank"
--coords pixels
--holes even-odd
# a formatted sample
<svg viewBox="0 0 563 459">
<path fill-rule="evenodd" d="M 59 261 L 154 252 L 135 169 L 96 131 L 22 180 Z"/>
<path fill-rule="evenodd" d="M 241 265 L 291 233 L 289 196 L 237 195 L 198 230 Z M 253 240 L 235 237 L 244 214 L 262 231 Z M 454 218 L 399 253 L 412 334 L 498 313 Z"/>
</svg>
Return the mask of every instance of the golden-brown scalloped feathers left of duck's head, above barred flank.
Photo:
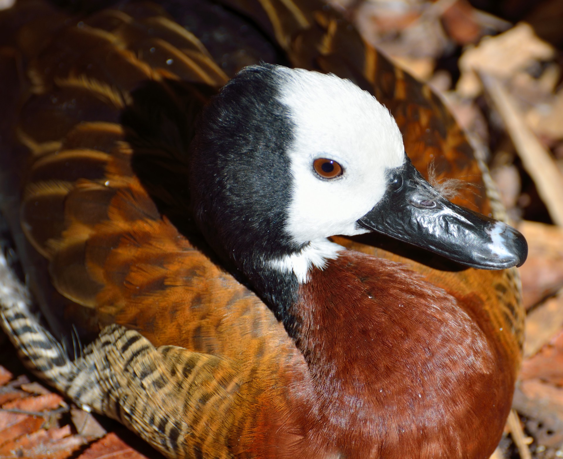
<svg viewBox="0 0 563 459">
<path fill-rule="evenodd" d="M 249 324 L 264 335 L 259 346 L 271 333 L 287 340 L 262 302 L 194 246 L 204 244 L 189 217 L 185 152 L 195 114 L 226 76 L 155 9 L 73 19 L 27 68 L 15 128 L 30 164 L 21 228 L 71 300 L 54 315 L 91 334 L 117 322 L 155 344 L 215 354 L 238 355 Z M 179 59 L 184 51 L 198 58 Z"/>
</svg>

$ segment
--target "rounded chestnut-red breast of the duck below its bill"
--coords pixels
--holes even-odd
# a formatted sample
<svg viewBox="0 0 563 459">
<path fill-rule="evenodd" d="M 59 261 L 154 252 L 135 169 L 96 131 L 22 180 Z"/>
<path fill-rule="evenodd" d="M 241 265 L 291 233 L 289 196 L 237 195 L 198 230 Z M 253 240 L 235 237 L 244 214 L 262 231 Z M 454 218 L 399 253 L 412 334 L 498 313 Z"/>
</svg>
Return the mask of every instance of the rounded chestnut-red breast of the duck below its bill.
<svg viewBox="0 0 563 459">
<path fill-rule="evenodd" d="M 513 379 L 473 319 L 480 310 L 403 264 L 358 252 L 315 270 L 297 308 L 318 426 L 343 456 L 477 458 L 494 449 Z M 488 444 L 474 435 L 483 424 L 498 433 Z"/>
</svg>

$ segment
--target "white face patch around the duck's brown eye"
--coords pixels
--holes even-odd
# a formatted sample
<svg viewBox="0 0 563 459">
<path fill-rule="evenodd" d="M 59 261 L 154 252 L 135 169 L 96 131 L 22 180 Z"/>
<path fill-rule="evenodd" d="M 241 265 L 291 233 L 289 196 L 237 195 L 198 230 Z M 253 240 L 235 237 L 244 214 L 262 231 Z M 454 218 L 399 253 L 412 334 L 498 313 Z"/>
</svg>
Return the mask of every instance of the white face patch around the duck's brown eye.
<svg viewBox="0 0 563 459">
<path fill-rule="evenodd" d="M 295 127 L 287 152 L 293 189 L 286 230 L 298 244 L 365 233 L 356 221 L 383 197 L 386 170 L 404 162 L 395 119 L 348 80 L 302 69 L 277 71 L 280 101 Z M 338 162 L 342 176 L 320 179 L 313 168 L 317 158 Z"/>
</svg>

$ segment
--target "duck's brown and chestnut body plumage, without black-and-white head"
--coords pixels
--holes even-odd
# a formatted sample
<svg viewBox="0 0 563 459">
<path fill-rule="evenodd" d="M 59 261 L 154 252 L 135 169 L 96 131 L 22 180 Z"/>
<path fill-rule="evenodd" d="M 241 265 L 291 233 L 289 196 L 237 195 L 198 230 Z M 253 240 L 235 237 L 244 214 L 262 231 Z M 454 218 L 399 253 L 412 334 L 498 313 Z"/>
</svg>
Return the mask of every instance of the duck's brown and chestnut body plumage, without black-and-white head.
<svg viewBox="0 0 563 459">
<path fill-rule="evenodd" d="M 260 59 L 372 92 L 419 170 L 470 182 L 478 192 L 454 202 L 498 216 L 482 160 L 429 88 L 329 7 L 222 3 L 241 16 L 204 2 L 72 16 L 39 0 L 0 15 L 3 211 L 51 329 L 103 329 L 74 364 L 32 324 L 53 353 L 38 366 L 17 311 L 13 340 L 53 385 L 169 457 L 488 457 L 521 358 L 514 268 L 335 237 L 352 251 L 301 287 L 294 341 L 204 242 L 186 185 L 197 114 Z M 233 38 L 175 22 L 194 16 Z"/>
</svg>

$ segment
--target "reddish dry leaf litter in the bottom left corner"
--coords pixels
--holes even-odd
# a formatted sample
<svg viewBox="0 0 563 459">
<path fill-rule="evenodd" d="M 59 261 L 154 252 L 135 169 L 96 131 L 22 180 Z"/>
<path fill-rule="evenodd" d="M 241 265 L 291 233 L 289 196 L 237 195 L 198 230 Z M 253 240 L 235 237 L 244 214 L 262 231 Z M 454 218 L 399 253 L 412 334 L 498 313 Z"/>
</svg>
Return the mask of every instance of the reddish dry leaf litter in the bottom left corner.
<svg viewBox="0 0 563 459">
<path fill-rule="evenodd" d="M 0 362 L 14 360 L 0 355 Z M 124 427 L 114 430 L 108 434 L 91 413 L 0 365 L 0 459 L 162 459 Z"/>
</svg>

